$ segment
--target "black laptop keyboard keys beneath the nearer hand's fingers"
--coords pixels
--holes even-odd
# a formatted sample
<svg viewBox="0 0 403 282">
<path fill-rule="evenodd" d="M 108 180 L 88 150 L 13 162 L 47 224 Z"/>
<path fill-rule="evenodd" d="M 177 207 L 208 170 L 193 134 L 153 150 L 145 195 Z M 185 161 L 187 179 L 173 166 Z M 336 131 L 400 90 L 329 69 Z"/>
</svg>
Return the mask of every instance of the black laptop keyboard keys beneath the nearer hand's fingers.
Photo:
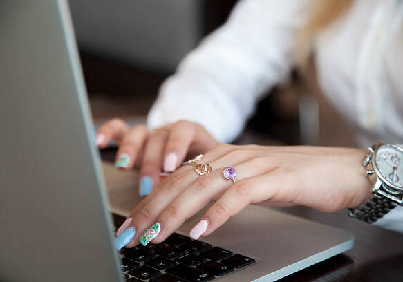
<svg viewBox="0 0 403 282">
<path fill-rule="evenodd" d="M 122 274 L 129 282 L 203 282 L 243 270 L 255 260 L 187 236 L 172 234 L 164 242 L 122 249 Z"/>
</svg>

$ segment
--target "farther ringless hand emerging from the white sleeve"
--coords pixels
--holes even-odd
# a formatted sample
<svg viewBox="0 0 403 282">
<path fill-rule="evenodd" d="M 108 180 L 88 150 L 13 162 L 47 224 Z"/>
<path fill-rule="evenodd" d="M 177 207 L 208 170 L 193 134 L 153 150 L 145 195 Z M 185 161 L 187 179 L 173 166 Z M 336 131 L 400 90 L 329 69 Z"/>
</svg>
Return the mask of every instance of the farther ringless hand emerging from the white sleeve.
<svg viewBox="0 0 403 282">
<path fill-rule="evenodd" d="M 151 130 L 141 124 L 129 127 L 114 118 L 97 131 L 96 143 L 100 149 L 114 140 L 118 144 L 115 167 L 128 171 L 140 167 L 140 195 L 151 193 L 160 181 L 161 171 L 170 173 L 185 160 L 209 151 L 218 144 L 203 126 L 180 120 Z"/>
</svg>

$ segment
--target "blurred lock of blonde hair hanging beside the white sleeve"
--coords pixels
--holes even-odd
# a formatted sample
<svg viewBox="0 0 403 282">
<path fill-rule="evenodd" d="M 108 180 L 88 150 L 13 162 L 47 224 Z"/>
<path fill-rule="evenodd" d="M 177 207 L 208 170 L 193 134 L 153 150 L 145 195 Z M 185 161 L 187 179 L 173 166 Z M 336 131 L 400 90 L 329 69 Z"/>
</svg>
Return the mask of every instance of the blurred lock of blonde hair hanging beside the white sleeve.
<svg viewBox="0 0 403 282">
<path fill-rule="evenodd" d="M 312 40 L 318 32 L 328 27 L 330 23 L 344 15 L 353 0 L 311 0 L 312 16 L 302 28 L 297 39 L 295 55 L 299 66 L 304 67 L 312 52 Z"/>
</svg>

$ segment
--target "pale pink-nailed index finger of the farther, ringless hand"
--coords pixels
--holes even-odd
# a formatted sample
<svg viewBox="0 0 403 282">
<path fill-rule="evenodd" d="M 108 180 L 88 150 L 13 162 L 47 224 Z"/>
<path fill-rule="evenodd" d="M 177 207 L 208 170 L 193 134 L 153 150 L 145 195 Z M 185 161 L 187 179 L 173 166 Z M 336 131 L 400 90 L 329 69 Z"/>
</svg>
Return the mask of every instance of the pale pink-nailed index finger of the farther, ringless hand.
<svg viewBox="0 0 403 282">
<path fill-rule="evenodd" d="M 165 147 L 164 171 L 172 172 L 183 162 L 194 136 L 195 126 L 192 122 L 181 120 L 172 126 Z"/>
</svg>

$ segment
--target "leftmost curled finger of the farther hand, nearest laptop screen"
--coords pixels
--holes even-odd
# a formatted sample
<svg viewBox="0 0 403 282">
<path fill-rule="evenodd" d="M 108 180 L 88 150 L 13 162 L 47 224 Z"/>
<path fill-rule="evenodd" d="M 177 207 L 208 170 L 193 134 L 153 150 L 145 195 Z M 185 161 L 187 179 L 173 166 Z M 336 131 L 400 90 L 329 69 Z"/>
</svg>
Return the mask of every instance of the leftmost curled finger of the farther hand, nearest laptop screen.
<svg viewBox="0 0 403 282">
<path fill-rule="evenodd" d="M 97 147 L 104 149 L 108 147 L 112 140 L 115 140 L 119 144 L 128 129 L 129 126 L 120 118 L 109 120 L 97 131 L 97 138 L 95 140 Z"/>
</svg>

